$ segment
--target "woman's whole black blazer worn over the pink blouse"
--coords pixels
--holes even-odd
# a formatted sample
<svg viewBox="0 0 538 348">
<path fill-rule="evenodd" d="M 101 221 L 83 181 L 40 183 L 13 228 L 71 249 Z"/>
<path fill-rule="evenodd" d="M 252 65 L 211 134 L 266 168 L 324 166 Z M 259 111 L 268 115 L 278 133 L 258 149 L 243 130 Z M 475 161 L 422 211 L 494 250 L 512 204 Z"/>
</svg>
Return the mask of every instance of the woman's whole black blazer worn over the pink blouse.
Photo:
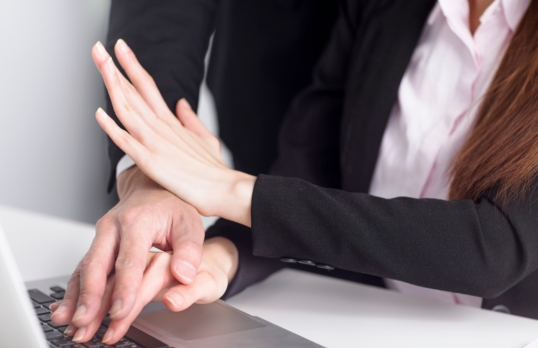
<svg viewBox="0 0 538 348">
<path fill-rule="evenodd" d="M 207 232 L 232 239 L 240 251 L 227 296 L 288 257 L 375 276 L 366 277 L 369 283 L 392 278 L 480 296 L 484 308 L 502 304 L 538 318 L 538 190 L 504 205 L 495 188 L 474 202 L 366 194 L 434 4 L 345 4 L 313 83 L 286 116 L 274 175 L 258 176 L 251 231 L 220 220 Z"/>
</svg>

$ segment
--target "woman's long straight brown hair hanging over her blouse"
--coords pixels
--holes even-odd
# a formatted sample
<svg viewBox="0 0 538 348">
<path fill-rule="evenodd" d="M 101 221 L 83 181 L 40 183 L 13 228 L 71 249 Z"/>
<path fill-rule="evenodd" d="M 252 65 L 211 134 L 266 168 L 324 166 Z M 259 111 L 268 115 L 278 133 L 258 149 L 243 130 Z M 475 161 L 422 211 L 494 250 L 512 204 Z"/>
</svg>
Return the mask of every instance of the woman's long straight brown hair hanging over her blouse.
<svg viewBox="0 0 538 348">
<path fill-rule="evenodd" d="M 538 175 L 538 0 L 532 0 L 456 155 L 450 199 L 522 198 Z"/>
</svg>

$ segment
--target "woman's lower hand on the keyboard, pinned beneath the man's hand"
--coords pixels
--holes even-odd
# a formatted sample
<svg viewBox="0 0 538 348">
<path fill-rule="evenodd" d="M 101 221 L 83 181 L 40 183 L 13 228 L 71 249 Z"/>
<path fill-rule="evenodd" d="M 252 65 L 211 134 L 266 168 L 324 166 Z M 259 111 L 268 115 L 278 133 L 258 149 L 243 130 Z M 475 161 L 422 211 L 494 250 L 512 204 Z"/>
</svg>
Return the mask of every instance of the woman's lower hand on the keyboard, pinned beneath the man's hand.
<svg viewBox="0 0 538 348">
<path fill-rule="evenodd" d="M 133 309 L 125 318 L 110 322 L 103 342 L 113 344 L 121 339 L 150 301 L 163 301 L 170 310 L 179 312 L 193 303 L 210 303 L 219 299 L 237 270 L 237 249 L 230 240 L 222 237 L 205 241 L 203 249 L 202 263 L 191 284 L 179 283 L 170 272 L 171 253 L 150 252 Z M 109 277 L 98 315 L 92 322 L 85 327 L 76 327 L 76 318 L 73 318 L 65 332 L 67 335 L 74 335 L 74 341 L 86 342 L 93 338 L 110 310 L 115 281 L 114 275 Z M 57 307 L 58 302 L 51 305 L 51 310 L 54 312 Z M 55 320 L 54 313 L 52 320 Z"/>
</svg>

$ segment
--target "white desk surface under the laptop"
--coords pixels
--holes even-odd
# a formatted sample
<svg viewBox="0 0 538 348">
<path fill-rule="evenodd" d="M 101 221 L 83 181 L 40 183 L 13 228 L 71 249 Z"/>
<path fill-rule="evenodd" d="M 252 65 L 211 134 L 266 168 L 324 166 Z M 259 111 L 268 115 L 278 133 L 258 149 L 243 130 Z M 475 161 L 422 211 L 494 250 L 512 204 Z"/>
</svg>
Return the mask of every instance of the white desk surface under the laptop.
<svg viewBox="0 0 538 348">
<path fill-rule="evenodd" d="M 3 206 L 0 222 L 25 281 L 70 273 L 94 233 L 91 225 Z M 523 348 L 538 338 L 536 320 L 291 270 L 228 303 L 327 347 Z"/>
</svg>

